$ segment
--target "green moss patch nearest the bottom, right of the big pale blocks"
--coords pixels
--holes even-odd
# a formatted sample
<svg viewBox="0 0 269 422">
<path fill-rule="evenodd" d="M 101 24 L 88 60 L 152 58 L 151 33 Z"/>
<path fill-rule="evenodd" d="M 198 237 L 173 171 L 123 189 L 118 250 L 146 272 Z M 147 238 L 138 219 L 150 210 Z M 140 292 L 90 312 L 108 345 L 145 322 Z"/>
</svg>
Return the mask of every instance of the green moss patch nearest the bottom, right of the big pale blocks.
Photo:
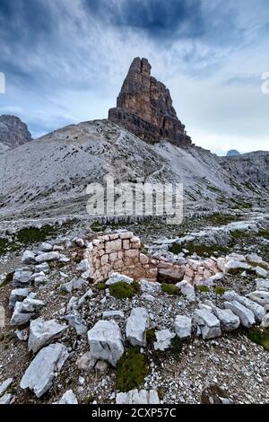
<svg viewBox="0 0 269 422">
<path fill-rule="evenodd" d="M 119 391 L 139 389 L 149 374 L 149 363 L 139 347 L 129 347 L 117 363 L 116 388 Z"/>
</svg>

